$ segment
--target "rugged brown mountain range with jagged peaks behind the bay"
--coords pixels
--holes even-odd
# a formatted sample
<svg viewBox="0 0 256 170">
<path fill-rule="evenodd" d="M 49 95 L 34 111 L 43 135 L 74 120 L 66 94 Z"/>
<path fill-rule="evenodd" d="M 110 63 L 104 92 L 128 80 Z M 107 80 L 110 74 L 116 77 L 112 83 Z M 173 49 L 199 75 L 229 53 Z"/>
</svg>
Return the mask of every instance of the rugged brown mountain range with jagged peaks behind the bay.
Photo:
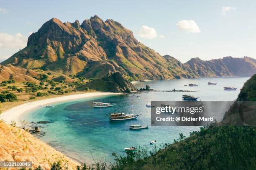
<svg viewBox="0 0 256 170">
<path fill-rule="evenodd" d="M 27 46 L 1 63 L 29 70 L 43 69 L 64 75 L 101 78 L 121 72 L 129 80 L 162 80 L 204 76 L 250 76 L 256 61 L 250 57 L 203 61 L 193 58 L 182 64 L 161 56 L 136 40 L 133 32 L 114 20 L 97 15 L 82 24 L 62 23 L 56 18 L 28 37 Z"/>
</svg>

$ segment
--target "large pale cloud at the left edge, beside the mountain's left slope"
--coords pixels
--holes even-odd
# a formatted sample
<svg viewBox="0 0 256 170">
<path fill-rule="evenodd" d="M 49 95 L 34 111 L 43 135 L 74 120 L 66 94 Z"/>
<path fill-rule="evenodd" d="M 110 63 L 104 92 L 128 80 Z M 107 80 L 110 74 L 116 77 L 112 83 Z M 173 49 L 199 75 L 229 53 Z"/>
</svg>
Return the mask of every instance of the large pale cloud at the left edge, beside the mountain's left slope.
<svg viewBox="0 0 256 170">
<path fill-rule="evenodd" d="M 28 38 L 20 33 L 15 35 L 0 33 L 0 49 L 17 49 L 26 47 Z"/>
</svg>

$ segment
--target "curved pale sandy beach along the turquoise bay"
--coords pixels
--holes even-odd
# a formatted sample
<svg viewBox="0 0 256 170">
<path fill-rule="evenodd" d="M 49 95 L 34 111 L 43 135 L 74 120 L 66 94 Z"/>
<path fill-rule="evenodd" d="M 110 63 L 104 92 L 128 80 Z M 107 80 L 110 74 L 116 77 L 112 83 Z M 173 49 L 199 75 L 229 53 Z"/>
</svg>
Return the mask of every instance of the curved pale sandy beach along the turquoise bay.
<svg viewBox="0 0 256 170">
<path fill-rule="evenodd" d="M 53 97 L 49 99 L 44 100 L 37 100 L 34 102 L 27 102 L 22 105 L 16 106 L 11 108 L 10 110 L 7 110 L 3 112 L 0 115 L 0 120 L 3 119 L 7 124 L 10 124 L 12 120 L 15 120 L 17 124 L 19 124 L 19 117 L 23 113 L 27 112 L 28 110 L 34 109 L 36 107 L 39 107 L 40 105 L 47 105 L 52 104 L 54 102 L 61 102 L 66 100 L 75 100 L 80 98 L 88 98 L 88 97 L 99 97 L 104 95 L 119 95 L 121 93 L 113 93 L 113 92 L 92 92 L 92 93 L 83 93 L 83 94 L 77 94 L 77 95 L 67 95 L 67 96 L 61 96 L 61 97 Z"/>
</svg>

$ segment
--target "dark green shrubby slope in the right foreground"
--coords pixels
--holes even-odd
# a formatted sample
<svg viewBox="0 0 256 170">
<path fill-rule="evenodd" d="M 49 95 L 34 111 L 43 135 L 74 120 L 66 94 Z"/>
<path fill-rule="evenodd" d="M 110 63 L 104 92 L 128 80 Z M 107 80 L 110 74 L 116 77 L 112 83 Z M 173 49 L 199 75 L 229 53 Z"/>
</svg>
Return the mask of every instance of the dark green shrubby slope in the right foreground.
<svg viewBox="0 0 256 170">
<path fill-rule="evenodd" d="M 238 100 L 254 100 L 256 75 L 249 79 Z M 181 136 L 182 137 L 182 136 Z M 255 126 L 215 125 L 201 128 L 185 140 L 165 145 L 162 150 L 116 157 L 113 170 L 221 170 L 256 169 Z"/>
</svg>

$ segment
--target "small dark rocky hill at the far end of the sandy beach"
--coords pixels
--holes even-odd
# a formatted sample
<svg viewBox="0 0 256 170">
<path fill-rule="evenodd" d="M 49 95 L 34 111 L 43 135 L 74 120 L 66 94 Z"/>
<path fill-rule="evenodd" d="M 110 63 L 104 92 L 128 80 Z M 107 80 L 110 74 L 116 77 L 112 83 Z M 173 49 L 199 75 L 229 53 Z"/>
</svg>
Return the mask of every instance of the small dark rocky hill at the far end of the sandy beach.
<svg viewBox="0 0 256 170">
<path fill-rule="evenodd" d="M 105 77 L 87 82 L 76 89 L 86 90 L 87 88 L 102 92 L 131 92 L 137 90 L 120 72 L 110 73 Z"/>
</svg>

